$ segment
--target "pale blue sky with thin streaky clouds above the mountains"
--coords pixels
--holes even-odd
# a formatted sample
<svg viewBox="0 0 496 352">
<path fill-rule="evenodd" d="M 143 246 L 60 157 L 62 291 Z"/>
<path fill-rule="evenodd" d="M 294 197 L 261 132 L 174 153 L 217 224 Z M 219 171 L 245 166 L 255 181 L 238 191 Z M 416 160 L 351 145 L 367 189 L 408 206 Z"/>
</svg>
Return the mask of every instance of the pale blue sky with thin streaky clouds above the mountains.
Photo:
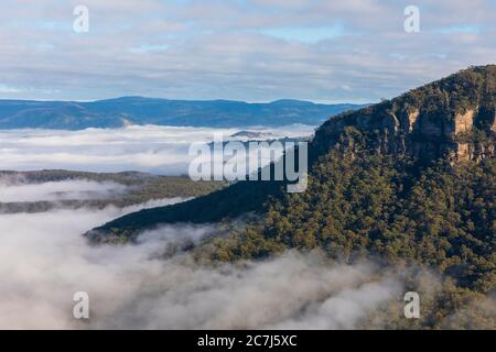
<svg viewBox="0 0 496 352">
<path fill-rule="evenodd" d="M 88 31 L 76 32 L 76 6 Z M 419 9 L 408 33 L 405 9 Z M 0 98 L 374 102 L 496 63 L 495 0 L 2 0 Z"/>
</svg>

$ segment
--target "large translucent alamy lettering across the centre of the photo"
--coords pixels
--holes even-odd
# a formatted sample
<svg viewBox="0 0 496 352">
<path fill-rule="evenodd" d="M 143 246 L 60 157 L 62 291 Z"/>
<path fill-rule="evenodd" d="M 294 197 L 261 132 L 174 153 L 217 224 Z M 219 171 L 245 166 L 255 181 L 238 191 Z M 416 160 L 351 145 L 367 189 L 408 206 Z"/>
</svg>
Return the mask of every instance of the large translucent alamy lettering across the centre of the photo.
<svg viewBox="0 0 496 352">
<path fill-rule="evenodd" d="M 303 193 L 308 152 L 308 142 L 225 142 L 215 133 L 213 143 L 191 144 L 188 175 L 193 180 L 285 180 L 288 193 Z"/>
</svg>

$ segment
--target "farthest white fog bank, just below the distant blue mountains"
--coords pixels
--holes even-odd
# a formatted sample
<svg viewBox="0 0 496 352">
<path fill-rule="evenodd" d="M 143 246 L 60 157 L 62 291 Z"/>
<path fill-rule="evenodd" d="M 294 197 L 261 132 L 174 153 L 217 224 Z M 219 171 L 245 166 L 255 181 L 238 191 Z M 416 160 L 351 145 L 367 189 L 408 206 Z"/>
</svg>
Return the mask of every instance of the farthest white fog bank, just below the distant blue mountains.
<svg viewBox="0 0 496 352">
<path fill-rule="evenodd" d="M 254 128 L 270 139 L 313 134 L 309 125 Z M 140 170 L 161 175 L 187 173 L 188 147 L 209 143 L 215 133 L 225 140 L 239 129 L 132 125 L 122 129 L 2 130 L 0 169 L 72 169 L 82 172 Z"/>
</svg>

